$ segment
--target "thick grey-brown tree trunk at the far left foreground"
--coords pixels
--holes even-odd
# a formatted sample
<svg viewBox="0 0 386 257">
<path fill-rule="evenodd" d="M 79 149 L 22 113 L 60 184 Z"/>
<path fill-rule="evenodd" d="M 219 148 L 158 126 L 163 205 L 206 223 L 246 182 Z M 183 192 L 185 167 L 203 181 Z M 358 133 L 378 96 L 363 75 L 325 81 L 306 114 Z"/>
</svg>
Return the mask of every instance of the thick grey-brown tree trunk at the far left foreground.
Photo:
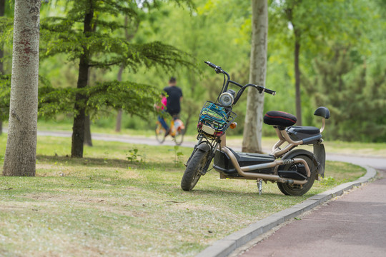
<svg viewBox="0 0 386 257">
<path fill-rule="evenodd" d="M 15 1 L 9 128 L 4 176 L 35 176 L 40 1 Z"/>
</svg>

